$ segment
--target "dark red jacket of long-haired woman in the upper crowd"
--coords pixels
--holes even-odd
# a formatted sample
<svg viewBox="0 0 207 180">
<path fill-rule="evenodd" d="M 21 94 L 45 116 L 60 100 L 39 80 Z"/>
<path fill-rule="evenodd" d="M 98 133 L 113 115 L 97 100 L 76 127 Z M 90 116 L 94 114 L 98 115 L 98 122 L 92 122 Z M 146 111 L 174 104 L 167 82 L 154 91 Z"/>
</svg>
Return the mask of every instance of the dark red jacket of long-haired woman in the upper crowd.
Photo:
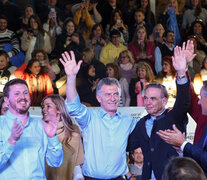
<svg viewBox="0 0 207 180">
<path fill-rule="evenodd" d="M 130 42 L 128 49 L 131 51 L 133 58 L 135 60 L 135 62 L 139 62 L 140 59 L 138 59 L 138 56 L 140 54 L 139 52 L 139 47 L 138 47 L 138 43 L 134 43 L 134 42 Z M 155 44 L 149 40 L 147 40 L 147 48 L 146 48 L 146 55 L 147 56 L 152 56 L 149 61 L 150 61 L 150 65 L 152 67 L 152 69 L 154 70 L 154 64 L 155 64 L 155 55 L 154 55 L 154 51 L 155 51 Z"/>
</svg>

